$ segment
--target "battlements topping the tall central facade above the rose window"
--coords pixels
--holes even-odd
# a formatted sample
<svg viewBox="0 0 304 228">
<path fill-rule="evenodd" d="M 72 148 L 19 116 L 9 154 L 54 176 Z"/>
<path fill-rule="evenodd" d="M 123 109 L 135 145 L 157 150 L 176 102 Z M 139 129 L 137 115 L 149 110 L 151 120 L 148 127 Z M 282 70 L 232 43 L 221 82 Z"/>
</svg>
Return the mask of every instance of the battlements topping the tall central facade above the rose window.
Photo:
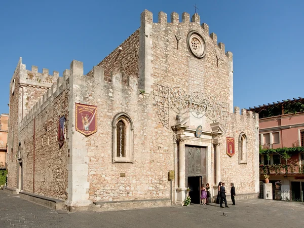
<svg viewBox="0 0 304 228">
<path fill-rule="evenodd" d="M 179 15 L 176 12 L 172 12 L 170 15 L 170 22 L 168 22 L 168 17 L 167 14 L 164 12 L 159 12 L 158 13 L 158 18 L 157 18 L 157 23 L 154 23 L 153 21 L 153 13 L 148 11 L 148 10 L 144 10 L 141 13 L 141 25 L 145 25 L 145 24 L 150 24 L 150 25 L 156 25 L 156 24 L 160 24 L 160 25 L 164 25 L 164 24 L 200 24 L 201 20 L 200 20 L 200 15 L 195 13 L 190 20 L 190 15 L 186 12 L 183 12 L 181 15 L 181 22 L 179 19 Z M 203 29 L 203 31 L 206 34 L 209 34 L 209 26 L 206 23 L 202 23 L 201 27 Z M 213 43 L 216 45 L 217 44 L 217 35 L 212 32 L 209 35 L 209 38 L 213 41 Z M 221 52 L 225 53 L 225 45 L 223 43 L 218 43 L 217 44 L 218 48 L 221 50 Z M 231 52 L 226 52 L 226 57 L 228 58 L 232 58 L 232 53 Z"/>
</svg>

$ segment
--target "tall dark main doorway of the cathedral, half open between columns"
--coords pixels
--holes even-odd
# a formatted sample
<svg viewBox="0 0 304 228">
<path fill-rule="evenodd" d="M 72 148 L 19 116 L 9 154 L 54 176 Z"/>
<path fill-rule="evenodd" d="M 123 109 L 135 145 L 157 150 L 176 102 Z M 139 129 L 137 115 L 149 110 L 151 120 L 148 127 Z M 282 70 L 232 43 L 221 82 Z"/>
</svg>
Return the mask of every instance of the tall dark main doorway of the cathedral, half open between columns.
<svg viewBox="0 0 304 228">
<path fill-rule="evenodd" d="M 201 184 L 206 185 L 206 147 L 185 146 L 186 186 L 190 188 L 191 203 L 201 202 Z"/>
</svg>

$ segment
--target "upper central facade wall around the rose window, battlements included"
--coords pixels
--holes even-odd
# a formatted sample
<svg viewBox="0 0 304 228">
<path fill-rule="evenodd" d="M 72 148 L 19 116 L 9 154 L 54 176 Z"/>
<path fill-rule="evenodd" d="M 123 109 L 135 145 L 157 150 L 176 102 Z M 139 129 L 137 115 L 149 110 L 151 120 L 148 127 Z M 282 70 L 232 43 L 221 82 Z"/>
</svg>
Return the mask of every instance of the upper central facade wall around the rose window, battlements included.
<svg viewBox="0 0 304 228">
<path fill-rule="evenodd" d="M 209 35 L 209 26 L 200 24 L 198 14 L 193 15 L 191 21 L 189 14 L 183 13 L 180 22 L 179 15 L 173 12 L 171 23 L 168 23 L 167 14 L 160 12 L 158 23 L 153 23 L 151 12 L 142 13 L 140 29 L 144 32 L 140 33 L 140 53 L 144 53 L 140 55 L 140 61 L 145 61 L 141 63 L 145 65 L 145 71 L 140 67 L 139 84 L 146 91 L 154 83 L 180 86 L 186 92 L 200 91 L 233 107 L 232 53 L 225 54 L 224 44 L 217 44 L 215 33 Z M 187 34 L 193 30 L 198 31 L 206 43 L 207 52 L 201 59 L 187 47 Z M 145 86 L 143 78 L 150 81 Z"/>
</svg>

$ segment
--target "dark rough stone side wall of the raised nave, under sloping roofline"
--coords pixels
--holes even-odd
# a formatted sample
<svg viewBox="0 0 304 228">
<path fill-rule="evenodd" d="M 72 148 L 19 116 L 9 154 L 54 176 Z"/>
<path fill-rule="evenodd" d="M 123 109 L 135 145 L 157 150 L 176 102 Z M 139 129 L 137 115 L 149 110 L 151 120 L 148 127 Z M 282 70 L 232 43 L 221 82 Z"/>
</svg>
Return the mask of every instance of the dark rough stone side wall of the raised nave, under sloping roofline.
<svg viewBox="0 0 304 228">
<path fill-rule="evenodd" d="M 138 77 L 139 30 L 131 34 L 119 47 L 106 56 L 97 66 L 104 68 L 105 81 L 109 81 L 111 73 L 123 72 L 123 81 L 132 75 Z M 93 75 L 91 70 L 88 76 Z"/>
</svg>

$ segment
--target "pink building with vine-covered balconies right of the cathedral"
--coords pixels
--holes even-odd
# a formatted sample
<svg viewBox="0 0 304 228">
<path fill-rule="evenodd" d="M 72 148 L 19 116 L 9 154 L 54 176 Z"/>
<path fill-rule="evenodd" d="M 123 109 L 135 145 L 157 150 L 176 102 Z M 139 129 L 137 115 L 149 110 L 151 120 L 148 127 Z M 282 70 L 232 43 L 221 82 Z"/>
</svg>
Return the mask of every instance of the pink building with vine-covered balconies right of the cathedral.
<svg viewBox="0 0 304 228">
<path fill-rule="evenodd" d="M 249 110 L 259 114 L 260 180 L 269 175 L 273 199 L 303 201 L 304 99 L 293 98 Z M 278 181 L 280 187 L 275 185 Z"/>
</svg>

